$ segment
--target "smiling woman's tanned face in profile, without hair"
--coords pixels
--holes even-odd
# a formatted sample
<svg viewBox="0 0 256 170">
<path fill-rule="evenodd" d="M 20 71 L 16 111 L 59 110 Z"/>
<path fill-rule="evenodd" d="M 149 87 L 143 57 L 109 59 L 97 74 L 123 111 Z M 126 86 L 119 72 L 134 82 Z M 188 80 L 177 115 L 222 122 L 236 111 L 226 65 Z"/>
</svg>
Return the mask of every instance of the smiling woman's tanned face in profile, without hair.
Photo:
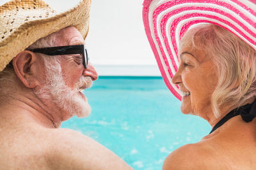
<svg viewBox="0 0 256 170">
<path fill-rule="evenodd" d="M 216 87 L 217 76 L 212 57 L 203 50 L 180 50 L 180 65 L 173 76 L 173 83 L 182 92 L 190 92 L 182 97 L 180 110 L 184 114 L 198 115 L 212 122 L 211 94 Z"/>
</svg>

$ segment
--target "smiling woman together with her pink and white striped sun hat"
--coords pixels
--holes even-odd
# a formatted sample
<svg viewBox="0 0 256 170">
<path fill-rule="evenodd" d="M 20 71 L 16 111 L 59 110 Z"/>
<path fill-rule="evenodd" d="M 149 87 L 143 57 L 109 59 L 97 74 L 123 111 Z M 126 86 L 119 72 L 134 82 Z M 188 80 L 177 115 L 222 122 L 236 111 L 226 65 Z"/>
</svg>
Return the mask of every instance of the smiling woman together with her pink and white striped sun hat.
<svg viewBox="0 0 256 170">
<path fill-rule="evenodd" d="M 180 26 L 181 29 L 176 28 L 179 24 L 175 25 L 175 22 L 182 18 L 179 15 L 176 21 L 170 19 L 170 27 L 166 26 L 168 29 L 177 29 L 181 32 L 179 33 L 182 38 L 177 45 L 179 46 L 177 48 L 179 49 L 177 50 L 179 68 L 175 69 L 173 56 L 176 54 L 177 34 L 172 34 L 171 31 L 169 34 L 171 38 L 168 38 L 168 32 L 164 32 L 163 27 L 168 23 L 165 20 L 168 20 L 168 17 L 177 10 L 177 6 L 176 8 L 173 6 L 180 2 L 166 3 L 159 0 L 157 4 L 157 1 L 145 1 L 143 9 L 145 29 L 166 85 L 175 96 L 178 98 L 179 94 L 181 96 L 180 110 L 184 114 L 204 118 L 212 126 L 212 131 L 200 142 L 184 145 L 170 153 L 164 160 L 163 169 L 256 169 L 256 35 L 253 31 L 250 32 L 245 24 L 243 28 L 241 28 L 243 25 L 239 28 L 244 32 L 239 31 L 230 20 L 225 22 L 223 20 L 225 17 L 222 16 L 221 20 L 220 15 L 216 15 L 215 17 L 219 18 L 216 18 L 218 22 L 214 23 L 213 17 L 205 13 L 204 17 L 211 18 L 211 20 L 204 18 L 207 24 L 194 25 L 188 31 L 184 31 L 186 26 L 191 24 L 192 19 L 189 16 L 202 17 L 201 11 L 195 12 L 195 10 L 208 10 L 207 12 L 211 13 L 210 11 L 214 9 L 212 11 L 216 12 L 212 3 L 218 3 L 218 1 L 198 1 L 204 8 L 198 4 L 189 4 L 188 8 L 193 6 L 193 15 L 188 15 L 190 11 L 186 11 L 183 15 L 183 17 L 187 15 L 186 17 L 190 19 L 188 24 L 183 23 L 184 25 Z M 237 6 L 242 6 L 241 2 Z M 225 3 L 227 7 L 227 4 L 231 5 L 233 2 L 223 0 L 218 5 L 222 4 L 225 7 Z M 243 15 L 241 18 L 233 18 L 233 20 L 237 22 L 246 18 L 248 25 L 254 26 L 251 29 L 255 29 L 255 11 L 252 10 L 255 8 L 249 8 L 248 4 L 244 5 L 247 5 L 248 13 L 253 13 L 253 20 L 249 22 L 250 18 L 243 13 L 239 13 Z M 252 2 L 250 4 L 256 6 Z M 233 10 L 236 11 L 237 6 L 228 6 L 228 9 L 234 7 Z M 156 10 L 151 12 L 153 13 L 151 15 L 148 11 L 152 9 Z M 159 12 L 161 9 L 168 9 L 168 12 Z M 184 10 L 184 6 L 179 10 Z M 157 13 L 161 13 L 160 19 Z M 161 34 L 157 32 L 158 19 Z M 196 22 L 199 23 L 202 20 L 200 18 Z M 225 25 L 227 23 L 229 25 Z M 154 36 L 152 36 L 152 30 L 155 30 Z M 172 47 L 168 46 L 170 41 Z M 167 55 L 170 55 L 170 62 L 168 61 L 170 59 L 165 57 Z M 168 78 L 167 73 L 172 73 L 172 70 L 175 70 L 175 74 L 170 74 L 171 79 Z M 179 87 L 179 91 L 175 90 L 177 88 L 175 85 Z"/>
</svg>

